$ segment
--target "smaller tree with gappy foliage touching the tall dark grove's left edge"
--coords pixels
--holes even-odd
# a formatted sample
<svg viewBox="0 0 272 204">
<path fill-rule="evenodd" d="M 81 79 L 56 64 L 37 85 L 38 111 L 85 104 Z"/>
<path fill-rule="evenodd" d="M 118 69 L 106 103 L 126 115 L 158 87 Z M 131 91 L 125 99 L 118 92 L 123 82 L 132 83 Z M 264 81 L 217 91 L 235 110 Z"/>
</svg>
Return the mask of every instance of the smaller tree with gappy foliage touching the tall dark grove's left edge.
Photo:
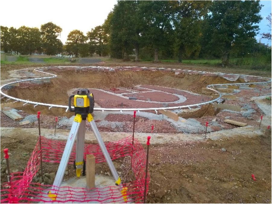
<svg viewBox="0 0 272 204">
<path fill-rule="evenodd" d="M 102 54 L 105 56 L 107 54 L 108 36 L 105 33 L 103 25 L 96 26 L 94 29 L 87 32 L 87 36 L 91 42 L 90 45 L 94 46 L 96 54 L 100 57 Z"/>
</svg>

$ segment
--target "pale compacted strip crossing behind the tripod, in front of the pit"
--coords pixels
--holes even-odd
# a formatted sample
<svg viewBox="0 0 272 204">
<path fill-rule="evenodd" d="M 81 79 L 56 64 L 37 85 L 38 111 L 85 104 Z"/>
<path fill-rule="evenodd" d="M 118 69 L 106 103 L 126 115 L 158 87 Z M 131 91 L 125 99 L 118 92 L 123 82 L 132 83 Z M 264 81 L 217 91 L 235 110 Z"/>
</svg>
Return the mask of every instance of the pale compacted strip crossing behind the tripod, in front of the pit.
<svg viewBox="0 0 272 204">
<path fill-rule="evenodd" d="M 261 136 L 264 134 L 266 127 L 261 126 L 261 129 L 258 127 L 246 126 L 246 127 L 237 127 L 231 130 L 221 130 L 217 132 L 207 133 L 207 139 L 219 140 L 226 137 L 253 137 Z M 8 137 L 16 134 L 17 131 L 27 131 L 29 134 L 37 135 L 38 137 L 38 128 L 14 128 L 14 127 L 2 127 L 0 129 L 1 137 Z M 58 130 L 54 136 L 54 129 L 41 129 L 41 135 L 54 140 L 67 140 L 69 135 L 69 130 Z M 129 133 L 114 133 L 114 132 L 101 132 L 101 137 L 104 142 L 121 140 L 124 137 L 128 137 Z M 147 136 L 151 136 L 152 144 L 165 144 L 175 141 L 197 141 L 204 140 L 204 134 L 184 134 L 184 133 L 135 133 L 134 137 L 142 144 L 145 144 L 147 141 Z M 85 140 L 95 142 L 95 136 L 93 132 L 86 131 Z"/>
</svg>

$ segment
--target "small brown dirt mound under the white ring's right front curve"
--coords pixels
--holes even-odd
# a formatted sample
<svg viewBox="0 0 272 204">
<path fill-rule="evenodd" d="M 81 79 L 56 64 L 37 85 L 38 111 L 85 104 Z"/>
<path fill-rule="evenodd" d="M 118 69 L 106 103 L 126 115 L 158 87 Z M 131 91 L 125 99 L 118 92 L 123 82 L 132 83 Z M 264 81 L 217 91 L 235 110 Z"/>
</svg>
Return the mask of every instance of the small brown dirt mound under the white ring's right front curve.
<svg viewBox="0 0 272 204">
<path fill-rule="evenodd" d="M 179 114 L 180 117 L 182 118 L 201 118 L 204 116 L 214 116 L 219 113 L 220 108 L 214 108 L 213 105 L 208 104 L 202 106 L 199 110 L 194 111 L 194 112 L 189 112 L 189 113 L 184 113 L 184 114 Z"/>
</svg>

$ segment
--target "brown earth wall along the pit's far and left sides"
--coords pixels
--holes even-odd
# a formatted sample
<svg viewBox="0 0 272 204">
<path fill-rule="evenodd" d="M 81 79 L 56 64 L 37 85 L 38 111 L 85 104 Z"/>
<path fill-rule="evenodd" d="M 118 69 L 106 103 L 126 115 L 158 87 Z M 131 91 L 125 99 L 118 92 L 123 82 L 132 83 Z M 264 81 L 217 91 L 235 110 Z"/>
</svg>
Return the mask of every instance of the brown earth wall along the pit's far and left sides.
<svg viewBox="0 0 272 204">
<path fill-rule="evenodd" d="M 57 77 L 51 82 L 39 86 L 29 86 L 27 88 L 15 87 L 8 90 L 11 96 L 29 99 L 32 101 L 49 103 L 49 104 L 68 104 L 67 90 L 72 88 L 101 88 L 107 89 L 112 87 L 132 87 L 138 84 L 167 86 L 176 89 L 184 89 L 199 93 L 201 88 L 207 84 L 215 83 L 229 83 L 228 80 L 217 76 L 202 76 L 202 75 L 188 75 L 178 74 L 166 71 L 52 71 L 62 77 Z M 239 79 L 236 82 L 244 82 Z M 235 83 L 235 82 L 233 82 Z M 105 99 L 107 100 L 107 99 Z M 63 115 L 71 116 L 71 113 L 66 113 L 65 109 L 51 108 L 38 106 L 34 108 L 32 105 L 21 108 L 30 114 L 36 114 L 37 109 L 43 114 L 48 115 Z"/>
</svg>

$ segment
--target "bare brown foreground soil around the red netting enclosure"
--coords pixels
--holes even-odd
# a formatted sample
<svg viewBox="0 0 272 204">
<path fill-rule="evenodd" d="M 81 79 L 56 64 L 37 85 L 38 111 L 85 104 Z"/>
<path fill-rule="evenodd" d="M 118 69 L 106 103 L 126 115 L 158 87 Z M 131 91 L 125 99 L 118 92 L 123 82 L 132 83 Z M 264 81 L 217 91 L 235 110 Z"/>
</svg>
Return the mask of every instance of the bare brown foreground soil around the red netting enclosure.
<svg viewBox="0 0 272 204">
<path fill-rule="evenodd" d="M 270 136 L 271 131 L 267 131 L 261 137 L 160 145 L 152 145 L 151 138 L 147 202 L 271 203 Z M 24 170 L 37 139 L 26 129 L 18 129 L 17 134 L 10 137 L 1 137 L 1 152 L 9 148 L 12 171 Z M 1 154 L 1 168 L 5 168 L 3 160 Z M 121 163 L 122 160 L 116 161 L 115 165 Z M 44 163 L 44 172 L 55 172 L 57 167 L 57 164 Z M 106 164 L 96 165 L 96 173 L 101 171 L 109 172 Z M 73 165 L 69 165 L 64 179 L 74 176 Z M 129 175 L 123 176 L 131 179 Z M 1 174 L 1 183 L 5 181 L 6 175 Z"/>
</svg>

